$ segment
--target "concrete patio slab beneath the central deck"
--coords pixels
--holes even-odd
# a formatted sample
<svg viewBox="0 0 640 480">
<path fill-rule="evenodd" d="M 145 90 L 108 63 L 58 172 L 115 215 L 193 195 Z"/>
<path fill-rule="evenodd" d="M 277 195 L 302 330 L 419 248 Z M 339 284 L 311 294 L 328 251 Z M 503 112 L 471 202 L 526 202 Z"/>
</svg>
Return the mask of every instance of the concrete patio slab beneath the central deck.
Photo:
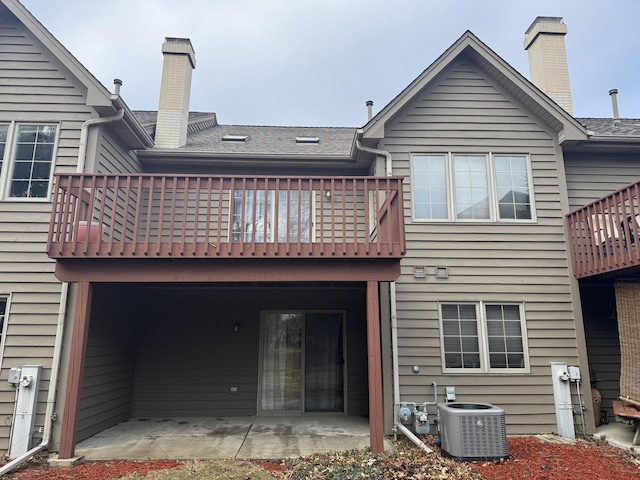
<svg viewBox="0 0 640 480">
<path fill-rule="evenodd" d="M 83 440 L 76 455 L 86 460 L 281 459 L 368 446 L 369 422 L 362 417 L 150 418 L 130 419 Z"/>
</svg>

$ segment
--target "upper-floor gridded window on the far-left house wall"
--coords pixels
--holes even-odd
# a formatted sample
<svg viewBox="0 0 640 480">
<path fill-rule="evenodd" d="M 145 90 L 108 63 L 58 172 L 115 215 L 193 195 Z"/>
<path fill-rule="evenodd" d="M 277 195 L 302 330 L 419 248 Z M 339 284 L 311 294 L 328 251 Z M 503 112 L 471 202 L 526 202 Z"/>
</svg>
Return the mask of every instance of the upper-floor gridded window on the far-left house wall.
<svg viewBox="0 0 640 480">
<path fill-rule="evenodd" d="M 0 124 L 0 179 L 4 198 L 47 198 L 58 126 Z"/>
</svg>

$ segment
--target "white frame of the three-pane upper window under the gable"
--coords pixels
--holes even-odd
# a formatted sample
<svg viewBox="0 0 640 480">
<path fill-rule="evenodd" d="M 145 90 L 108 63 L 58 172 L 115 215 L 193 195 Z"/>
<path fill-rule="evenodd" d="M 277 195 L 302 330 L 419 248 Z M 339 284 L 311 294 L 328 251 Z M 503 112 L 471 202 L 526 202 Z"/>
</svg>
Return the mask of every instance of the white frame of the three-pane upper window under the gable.
<svg viewBox="0 0 640 480">
<path fill-rule="evenodd" d="M 444 157 L 445 162 L 445 176 L 446 176 L 446 189 L 447 189 L 447 218 L 425 218 L 420 217 L 417 214 L 416 209 L 416 173 L 414 161 L 416 157 L 420 156 L 436 156 Z M 456 156 L 483 156 L 485 158 L 486 176 L 487 176 L 487 189 L 489 192 L 489 218 L 457 218 L 456 216 L 456 185 L 455 185 L 455 170 L 454 161 Z M 498 199 L 498 186 L 496 181 L 496 169 L 495 169 L 495 157 L 523 157 L 527 167 L 527 188 L 529 190 L 529 203 L 531 207 L 531 218 L 516 219 L 516 218 L 500 218 L 499 211 L 499 199 Z M 533 193 L 533 175 L 531 168 L 531 156 L 525 153 L 495 153 L 495 152 L 414 152 L 410 156 L 410 171 L 411 171 L 411 215 L 412 220 L 416 223 L 536 223 L 536 208 L 535 198 Z"/>
</svg>

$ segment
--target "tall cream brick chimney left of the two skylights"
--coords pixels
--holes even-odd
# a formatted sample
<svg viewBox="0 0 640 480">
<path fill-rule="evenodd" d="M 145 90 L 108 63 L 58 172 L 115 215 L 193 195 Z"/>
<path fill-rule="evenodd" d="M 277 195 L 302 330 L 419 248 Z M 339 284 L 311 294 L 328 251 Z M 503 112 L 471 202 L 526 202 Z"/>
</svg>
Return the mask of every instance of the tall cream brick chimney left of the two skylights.
<svg viewBox="0 0 640 480">
<path fill-rule="evenodd" d="M 158 148 L 179 148 L 187 143 L 191 74 L 196 57 L 188 38 L 165 38 L 162 44 L 162 83 L 156 124 Z"/>
</svg>

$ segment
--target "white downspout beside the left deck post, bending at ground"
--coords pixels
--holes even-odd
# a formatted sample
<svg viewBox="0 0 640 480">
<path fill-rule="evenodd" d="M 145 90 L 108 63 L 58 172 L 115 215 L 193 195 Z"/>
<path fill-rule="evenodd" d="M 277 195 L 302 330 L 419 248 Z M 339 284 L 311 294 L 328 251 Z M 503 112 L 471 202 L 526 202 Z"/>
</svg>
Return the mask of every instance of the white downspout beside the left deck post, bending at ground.
<svg viewBox="0 0 640 480">
<path fill-rule="evenodd" d="M 60 289 L 60 308 L 58 309 L 58 324 L 56 326 L 56 340 L 53 346 L 53 361 L 51 364 L 51 378 L 49 379 L 49 393 L 47 395 L 47 409 L 44 414 L 44 432 L 40 444 L 19 457 L 11 460 L 0 468 L 0 477 L 25 461 L 29 460 L 36 453 L 49 447 L 51 441 L 51 431 L 53 430 L 54 409 L 56 405 L 56 391 L 58 388 L 58 373 L 60 371 L 60 361 L 62 358 L 62 339 L 64 336 L 64 319 L 67 316 L 67 299 L 69 295 L 69 284 L 62 282 Z"/>
</svg>

